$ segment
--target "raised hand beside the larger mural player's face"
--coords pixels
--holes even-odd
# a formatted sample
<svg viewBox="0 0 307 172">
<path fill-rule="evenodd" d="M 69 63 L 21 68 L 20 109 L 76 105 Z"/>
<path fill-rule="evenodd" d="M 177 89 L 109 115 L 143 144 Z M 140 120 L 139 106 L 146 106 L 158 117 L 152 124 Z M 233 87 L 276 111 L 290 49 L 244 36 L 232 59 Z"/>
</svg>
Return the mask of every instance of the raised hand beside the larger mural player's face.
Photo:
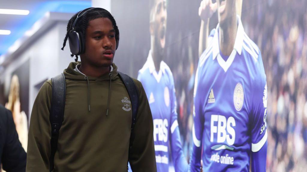
<svg viewBox="0 0 307 172">
<path fill-rule="evenodd" d="M 212 17 L 217 10 L 217 2 L 212 3 L 212 0 L 202 0 L 198 8 L 198 15 L 201 20 L 206 21 Z"/>
</svg>

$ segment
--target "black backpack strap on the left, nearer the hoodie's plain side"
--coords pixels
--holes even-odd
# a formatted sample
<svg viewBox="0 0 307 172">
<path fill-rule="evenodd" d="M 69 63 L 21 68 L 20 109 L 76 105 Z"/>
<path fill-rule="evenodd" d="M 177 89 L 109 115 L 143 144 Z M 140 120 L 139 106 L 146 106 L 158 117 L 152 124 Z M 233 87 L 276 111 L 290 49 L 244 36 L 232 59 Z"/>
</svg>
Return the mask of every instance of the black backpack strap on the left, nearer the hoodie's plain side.
<svg viewBox="0 0 307 172">
<path fill-rule="evenodd" d="M 50 124 L 51 124 L 51 154 L 49 157 L 49 171 L 54 168 L 54 155 L 57 149 L 59 138 L 59 130 L 61 128 L 64 116 L 66 83 L 64 73 L 51 78 L 52 81 L 52 97 L 50 109 Z"/>
</svg>

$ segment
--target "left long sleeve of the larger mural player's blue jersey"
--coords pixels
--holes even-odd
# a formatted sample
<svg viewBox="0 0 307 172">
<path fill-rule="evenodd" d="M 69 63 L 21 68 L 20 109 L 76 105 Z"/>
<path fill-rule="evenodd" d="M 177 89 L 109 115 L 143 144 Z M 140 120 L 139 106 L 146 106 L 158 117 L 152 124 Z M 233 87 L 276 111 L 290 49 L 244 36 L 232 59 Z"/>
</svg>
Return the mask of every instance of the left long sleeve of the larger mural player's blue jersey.
<svg viewBox="0 0 307 172">
<path fill-rule="evenodd" d="M 193 106 L 193 119 L 194 124 L 192 128 L 193 135 L 193 150 L 190 158 L 191 171 L 200 171 L 200 159 L 202 151 L 202 133 L 204 131 L 204 116 L 203 116 L 203 95 L 200 93 L 200 73 L 199 68 L 196 71 L 195 84 L 194 84 L 194 106 Z"/>
</svg>

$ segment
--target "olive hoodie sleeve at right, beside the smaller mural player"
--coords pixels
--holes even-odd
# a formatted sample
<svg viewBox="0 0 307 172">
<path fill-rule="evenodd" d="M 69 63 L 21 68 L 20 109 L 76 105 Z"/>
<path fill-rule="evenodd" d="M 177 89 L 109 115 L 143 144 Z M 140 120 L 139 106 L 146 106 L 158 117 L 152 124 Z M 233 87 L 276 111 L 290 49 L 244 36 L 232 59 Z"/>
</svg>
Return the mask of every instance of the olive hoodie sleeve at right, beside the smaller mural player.
<svg viewBox="0 0 307 172">
<path fill-rule="evenodd" d="M 132 171 L 157 171 L 153 144 L 153 118 L 142 84 L 134 80 L 139 88 L 139 106 L 134 125 L 134 142 L 129 152 Z"/>
</svg>

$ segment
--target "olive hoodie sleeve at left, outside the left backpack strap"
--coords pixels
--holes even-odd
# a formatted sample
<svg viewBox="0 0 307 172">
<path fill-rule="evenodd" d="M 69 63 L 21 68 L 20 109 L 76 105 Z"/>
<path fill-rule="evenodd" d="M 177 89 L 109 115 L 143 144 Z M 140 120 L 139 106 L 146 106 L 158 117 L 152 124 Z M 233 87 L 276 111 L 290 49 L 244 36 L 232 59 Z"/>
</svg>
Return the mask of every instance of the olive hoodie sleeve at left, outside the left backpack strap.
<svg viewBox="0 0 307 172">
<path fill-rule="evenodd" d="M 29 126 L 27 172 L 49 171 L 51 94 L 49 80 L 43 84 L 33 104 Z"/>
</svg>

